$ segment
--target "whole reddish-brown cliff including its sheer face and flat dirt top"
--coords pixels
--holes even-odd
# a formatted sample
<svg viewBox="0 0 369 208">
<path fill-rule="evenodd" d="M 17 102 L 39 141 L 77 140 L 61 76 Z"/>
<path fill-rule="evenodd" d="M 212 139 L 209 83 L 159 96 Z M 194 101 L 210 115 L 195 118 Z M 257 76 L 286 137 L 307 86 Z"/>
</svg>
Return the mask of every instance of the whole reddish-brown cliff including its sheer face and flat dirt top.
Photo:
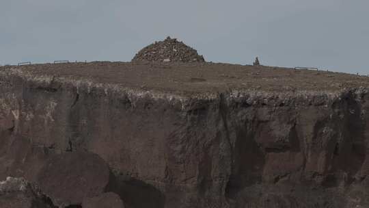
<svg viewBox="0 0 369 208">
<path fill-rule="evenodd" d="M 206 62 L 3 66 L 0 164 L 8 206 L 369 207 L 369 77 Z"/>
</svg>

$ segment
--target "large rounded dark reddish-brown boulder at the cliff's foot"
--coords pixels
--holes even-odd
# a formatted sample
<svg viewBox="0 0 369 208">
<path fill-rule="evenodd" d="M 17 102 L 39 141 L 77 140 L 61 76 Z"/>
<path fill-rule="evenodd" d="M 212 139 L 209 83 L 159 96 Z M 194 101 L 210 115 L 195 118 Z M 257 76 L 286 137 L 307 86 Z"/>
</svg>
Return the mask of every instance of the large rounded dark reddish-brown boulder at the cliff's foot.
<svg viewBox="0 0 369 208">
<path fill-rule="evenodd" d="M 101 194 L 108 182 L 105 161 L 84 151 L 55 155 L 38 176 L 40 189 L 57 206 L 81 205 L 84 197 Z"/>
</svg>

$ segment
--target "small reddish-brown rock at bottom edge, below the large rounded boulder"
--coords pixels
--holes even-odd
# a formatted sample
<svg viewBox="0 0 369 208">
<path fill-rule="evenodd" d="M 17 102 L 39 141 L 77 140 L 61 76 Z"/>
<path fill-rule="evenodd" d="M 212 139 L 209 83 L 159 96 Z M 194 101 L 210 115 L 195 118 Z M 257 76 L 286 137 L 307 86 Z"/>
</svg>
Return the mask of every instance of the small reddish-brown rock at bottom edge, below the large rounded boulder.
<svg viewBox="0 0 369 208">
<path fill-rule="evenodd" d="M 99 196 L 83 199 L 83 208 L 124 208 L 124 204 L 117 194 L 107 192 Z"/>
</svg>

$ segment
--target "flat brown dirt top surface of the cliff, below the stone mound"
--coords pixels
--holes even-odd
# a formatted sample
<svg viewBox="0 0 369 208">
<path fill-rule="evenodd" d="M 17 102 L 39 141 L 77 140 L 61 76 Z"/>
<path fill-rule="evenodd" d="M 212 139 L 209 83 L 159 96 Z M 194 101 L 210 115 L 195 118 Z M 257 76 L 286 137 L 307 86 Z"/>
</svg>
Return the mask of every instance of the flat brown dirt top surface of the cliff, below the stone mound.
<svg viewBox="0 0 369 208">
<path fill-rule="evenodd" d="M 366 87 L 369 77 L 318 70 L 212 63 L 90 62 L 8 66 L 32 75 L 90 79 L 96 83 L 163 92 L 224 92 L 227 90 L 342 90 Z"/>
</svg>

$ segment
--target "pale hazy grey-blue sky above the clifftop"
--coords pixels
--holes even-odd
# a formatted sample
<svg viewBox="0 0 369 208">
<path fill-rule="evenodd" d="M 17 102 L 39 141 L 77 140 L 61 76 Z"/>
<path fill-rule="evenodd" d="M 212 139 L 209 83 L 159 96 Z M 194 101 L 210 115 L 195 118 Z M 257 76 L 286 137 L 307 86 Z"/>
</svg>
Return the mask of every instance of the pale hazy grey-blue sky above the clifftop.
<svg viewBox="0 0 369 208">
<path fill-rule="evenodd" d="M 368 0 L 0 0 L 0 64 L 130 61 L 166 36 L 207 61 L 369 74 Z"/>
</svg>

